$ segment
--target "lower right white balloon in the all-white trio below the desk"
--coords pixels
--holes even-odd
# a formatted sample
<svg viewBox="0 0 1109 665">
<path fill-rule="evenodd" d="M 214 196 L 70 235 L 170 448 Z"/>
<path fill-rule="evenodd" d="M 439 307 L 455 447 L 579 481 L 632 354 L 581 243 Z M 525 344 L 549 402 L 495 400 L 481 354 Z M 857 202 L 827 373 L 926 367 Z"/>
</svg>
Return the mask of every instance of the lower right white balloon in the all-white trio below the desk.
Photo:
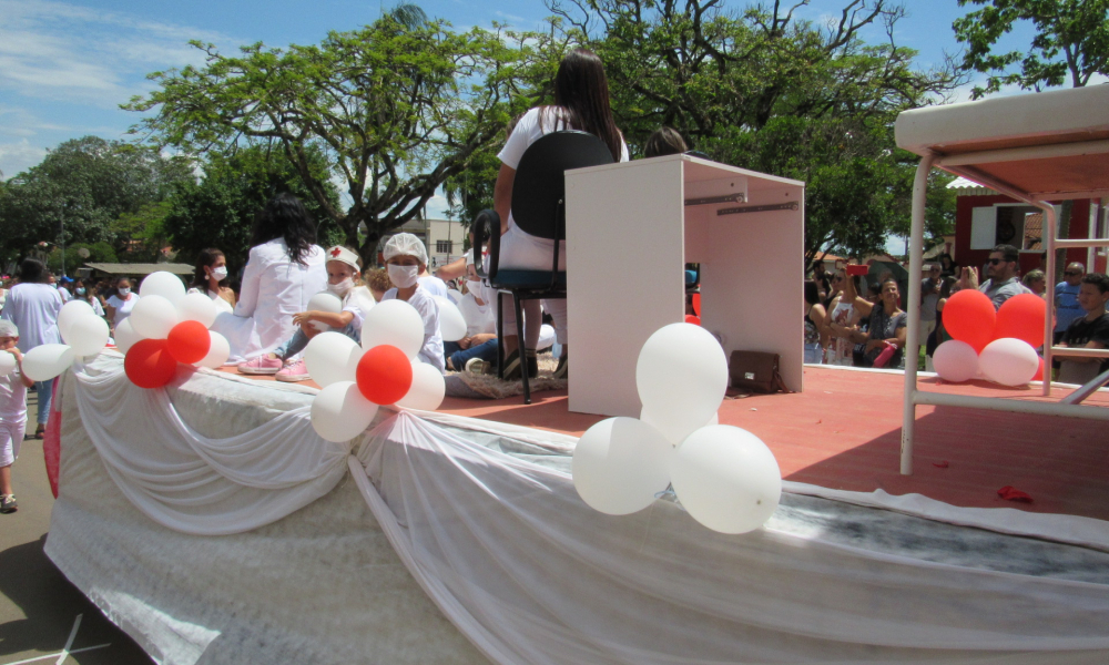
<svg viewBox="0 0 1109 665">
<path fill-rule="evenodd" d="M 682 441 L 670 482 L 690 515 L 721 533 L 762 526 L 782 498 L 774 453 L 759 437 L 730 424 L 703 427 Z"/>
</svg>

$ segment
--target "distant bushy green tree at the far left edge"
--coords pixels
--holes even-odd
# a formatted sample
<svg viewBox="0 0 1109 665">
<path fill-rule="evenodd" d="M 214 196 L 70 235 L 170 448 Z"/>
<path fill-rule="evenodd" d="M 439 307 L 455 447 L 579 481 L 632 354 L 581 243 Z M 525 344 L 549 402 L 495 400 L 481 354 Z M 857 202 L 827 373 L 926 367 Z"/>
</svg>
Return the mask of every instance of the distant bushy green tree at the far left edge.
<svg viewBox="0 0 1109 665">
<path fill-rule="evenodd" d="M 8 181 L 0 233 L 20 254 L 40 242 L 106 242 L 122 253 L 132 238 L 116 225 L 120 216 L 164 200 L 191 177 L 186 160 L 156 150 L 98 136 L 67 141 Z"/>
</svg>

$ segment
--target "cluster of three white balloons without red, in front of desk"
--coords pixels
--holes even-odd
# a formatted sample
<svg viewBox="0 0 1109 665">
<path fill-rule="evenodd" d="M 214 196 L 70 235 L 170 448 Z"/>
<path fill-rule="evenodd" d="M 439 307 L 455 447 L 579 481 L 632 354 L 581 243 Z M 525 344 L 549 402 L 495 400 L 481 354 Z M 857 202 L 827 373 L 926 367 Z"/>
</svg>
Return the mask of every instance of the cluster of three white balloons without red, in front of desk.
<svg viewBox="0 0 1109 665">
<path fill-rule="evenodd" d="M 624 515 L 673 487 L 698 522 L 745 533 L 770 519 L 782 472 L 765 443 L 716 424 L 728 361 L 713 336 L 692 324 L 657 330 L 635 367 L 640 418 L 609 418 L 589 428 L 573 451 L 573 485 L 593 509 Z"/>
</svg>

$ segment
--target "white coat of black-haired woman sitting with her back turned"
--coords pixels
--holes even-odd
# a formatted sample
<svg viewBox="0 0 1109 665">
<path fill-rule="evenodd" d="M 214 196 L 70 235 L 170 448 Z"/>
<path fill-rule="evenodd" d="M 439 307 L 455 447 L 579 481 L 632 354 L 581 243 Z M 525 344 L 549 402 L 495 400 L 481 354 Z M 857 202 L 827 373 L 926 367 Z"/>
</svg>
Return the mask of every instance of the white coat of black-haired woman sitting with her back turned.
<svg viewBox="0 0 1109 665">
<path fill-rule="evenodd" d="M 235 313 L 221 314 L 212 325 L 231 345 L 228 362 L 268 354 L 296 332 L 293 315 L 327 288 L 324 250 L 313 245 L 304 262 L 289 259 L 283 238 L 251 248 Z"/>
</svg>

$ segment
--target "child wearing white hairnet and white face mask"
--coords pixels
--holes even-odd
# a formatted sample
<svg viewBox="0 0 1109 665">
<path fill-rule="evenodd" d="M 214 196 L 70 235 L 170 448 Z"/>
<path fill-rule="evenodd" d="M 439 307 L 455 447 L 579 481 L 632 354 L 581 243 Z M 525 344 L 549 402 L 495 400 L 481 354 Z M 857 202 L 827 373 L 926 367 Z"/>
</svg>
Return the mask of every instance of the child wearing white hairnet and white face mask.
<svg viewBox="0 0 1109 665">
<path fill-rule="evenodd" d="M 427 269 L 424 242 L 410 233 L 398 233 L 385 243 L 381 255 L 389 280 L 396 286 L 385 291 L 381 300 L 400 299 L 416 308 L 424 319 L 424 347 L 416 359 L 444 371 L 446 361 L 442 357 L 442 336 L 439 334 L 439 306 L 418 280 L 420 270 Z"/>
</svg>

